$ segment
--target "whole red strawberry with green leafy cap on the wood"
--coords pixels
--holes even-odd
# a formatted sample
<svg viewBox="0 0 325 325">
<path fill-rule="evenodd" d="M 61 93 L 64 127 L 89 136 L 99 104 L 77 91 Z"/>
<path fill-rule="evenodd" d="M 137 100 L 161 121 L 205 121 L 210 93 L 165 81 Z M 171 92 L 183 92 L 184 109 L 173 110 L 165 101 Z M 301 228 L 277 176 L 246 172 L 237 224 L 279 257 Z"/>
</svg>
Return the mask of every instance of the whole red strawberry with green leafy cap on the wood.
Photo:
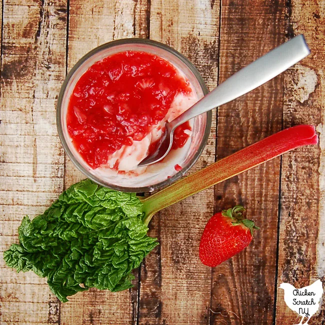
<svg viewBox="0 0 325 325">
<path fill-rule="evenodd" d="M 199 258 L 214 267 L 248 246 L 254 229 L 252 220 L 243 219 L 241 205 L 215 213 L 206 223 L 199 243 Z"/>
</svg>

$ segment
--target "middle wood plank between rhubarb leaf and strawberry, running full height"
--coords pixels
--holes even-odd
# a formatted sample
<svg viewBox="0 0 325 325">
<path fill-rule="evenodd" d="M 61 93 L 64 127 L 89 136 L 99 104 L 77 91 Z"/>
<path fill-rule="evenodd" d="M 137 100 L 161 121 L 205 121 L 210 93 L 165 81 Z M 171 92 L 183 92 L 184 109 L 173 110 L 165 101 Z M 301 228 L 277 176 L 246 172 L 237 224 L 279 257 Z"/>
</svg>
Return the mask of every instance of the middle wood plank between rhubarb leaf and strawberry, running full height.
<svg viewBox="0 0 325 325">
<path fill-rule="evenodd" d="M 218 21 L 218 5 L 210 1 L 151 0 L 150 38 L 188 57 L 211 88 L 217 80 Z M 190 172 L 214 162 L 214 148 L 215 114 L 205 151 Z M 208 323 L 210 269 L 198 259 L 198 243 L 212 213 L 211 188 L 153 217 L 150 235 L 160 245 L 141 268 L 140 324 Z"/>
</svg>

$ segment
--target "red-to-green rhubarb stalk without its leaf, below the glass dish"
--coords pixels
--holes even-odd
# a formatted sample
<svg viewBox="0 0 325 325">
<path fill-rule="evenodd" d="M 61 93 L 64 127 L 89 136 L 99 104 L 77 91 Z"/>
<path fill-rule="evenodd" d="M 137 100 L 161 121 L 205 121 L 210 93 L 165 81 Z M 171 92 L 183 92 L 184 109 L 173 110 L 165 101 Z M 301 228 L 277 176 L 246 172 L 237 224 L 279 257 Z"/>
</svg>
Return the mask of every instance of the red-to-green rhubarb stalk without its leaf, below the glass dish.
<svg viewBox="0 0 325 325">
<path fill-rule="evenodd" d="M 211 165 L 186 176 L 142 200 L 145 224 L 157 211 L 225 179 L 253 168 L 286 151 L 306 144 L 316 144 L 312 125 L 297 125 L 272 134 Z"/>
</svg>

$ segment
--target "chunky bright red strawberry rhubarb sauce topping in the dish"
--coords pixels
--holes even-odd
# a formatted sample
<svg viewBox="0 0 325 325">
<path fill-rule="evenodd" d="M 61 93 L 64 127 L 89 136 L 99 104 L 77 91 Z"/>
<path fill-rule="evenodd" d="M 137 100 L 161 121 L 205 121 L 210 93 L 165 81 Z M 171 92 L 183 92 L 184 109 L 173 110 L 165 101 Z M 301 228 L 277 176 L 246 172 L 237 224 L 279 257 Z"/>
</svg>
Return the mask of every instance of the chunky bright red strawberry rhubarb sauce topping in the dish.
<svg viewBox="0 0 325 325">
<path fill-rule="evenodd" d="M 189 82 L 163 58 L 139 51 L 107 56 L 76 82 L 66 114 L 73 145 L 92 168 L 106 164 L 122 145 L 141 140 L 166 115 Z M 188 139 L 189 123 L 175 130 L 173 148 Z"/>
</svg>

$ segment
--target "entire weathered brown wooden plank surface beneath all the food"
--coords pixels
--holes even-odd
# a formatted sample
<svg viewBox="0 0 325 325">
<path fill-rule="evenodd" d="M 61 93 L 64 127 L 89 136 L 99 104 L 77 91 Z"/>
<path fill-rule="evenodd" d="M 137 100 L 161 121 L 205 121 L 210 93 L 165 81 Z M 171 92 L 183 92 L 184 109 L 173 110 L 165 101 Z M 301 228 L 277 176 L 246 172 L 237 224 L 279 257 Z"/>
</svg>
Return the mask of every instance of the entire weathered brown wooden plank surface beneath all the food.
<svg viewBox="0 0 325 325">
<path fill-rule="evenodd" d="M 187 56 L 211 89 L 240 67 L 303 33 L 311 55 L 223 105 L 191 172 L 282 128 L 317 126 L 303 147 L 158 213 L 160 245 L 134 287 L 90 289 L 60 303 L 45 279 L 0 258 L 1 324 L 293 324 L 281 282 L 325 281 L 324 0 L 2 0 L 0 250 L 17 242 L 24 214 L 42 212 L 82 178 L 64 155 L 55 102 L 66 72 L 113 39 L 147 37 Z M 215 268 L 198 259 L 214 211 L 236 203 L 261 226 L 250 246 Z M 1 253 L 2 256 L 2 253 Z M 325 282 L 324 282 L 325 283 Z M 310 324 L 325 324 L 325 303 Z"/>
</svg>

